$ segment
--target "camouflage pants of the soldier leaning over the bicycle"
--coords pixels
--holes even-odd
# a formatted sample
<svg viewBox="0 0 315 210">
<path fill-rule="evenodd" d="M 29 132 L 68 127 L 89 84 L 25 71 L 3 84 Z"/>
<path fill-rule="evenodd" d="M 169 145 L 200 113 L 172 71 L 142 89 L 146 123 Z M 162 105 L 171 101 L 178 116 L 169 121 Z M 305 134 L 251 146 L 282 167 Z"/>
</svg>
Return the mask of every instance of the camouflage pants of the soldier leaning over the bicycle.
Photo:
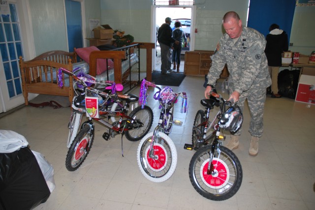
<svg viewBox="0 0 315 210">
<path fill-rule="evenodd" d="M 242 111 L 244 110 L 244 103 L 246 99 L 251 113 L 249 132 L 252 136 L 260 137 L 262 136 L 263 132 L 263 115 L 266 101 L 266 89 L 257 90 L 247 97 L 240 98 L 237 105 L 240 106 Z M 238 130 L 234 135 L 240 135 L 241 132 L 242 128 Z"/>
</svg>

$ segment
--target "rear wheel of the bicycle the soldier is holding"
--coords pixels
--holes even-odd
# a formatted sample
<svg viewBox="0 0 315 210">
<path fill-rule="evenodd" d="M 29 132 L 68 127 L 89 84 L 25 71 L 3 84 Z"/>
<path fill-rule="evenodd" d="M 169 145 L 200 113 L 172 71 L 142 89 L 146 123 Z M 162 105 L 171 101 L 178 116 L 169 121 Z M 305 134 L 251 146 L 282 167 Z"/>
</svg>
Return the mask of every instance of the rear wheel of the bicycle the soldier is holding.
<svg viewBox="0 0 315 210">
<path fill-rule="evenodd" d="M 205 118 L 205 112 L 203 110 L 198 110 L 197 114 L 195 116 L 195 119 L 193 121 L 193 128 L 192 128 L 192 148 L 194 150 L 198 150 L 201 144 L 202 136 L 203 136 L 203 130 L 204 126 L 199 126 L 201 123 L 204 123 L 206 120 Z"/>
</svg>

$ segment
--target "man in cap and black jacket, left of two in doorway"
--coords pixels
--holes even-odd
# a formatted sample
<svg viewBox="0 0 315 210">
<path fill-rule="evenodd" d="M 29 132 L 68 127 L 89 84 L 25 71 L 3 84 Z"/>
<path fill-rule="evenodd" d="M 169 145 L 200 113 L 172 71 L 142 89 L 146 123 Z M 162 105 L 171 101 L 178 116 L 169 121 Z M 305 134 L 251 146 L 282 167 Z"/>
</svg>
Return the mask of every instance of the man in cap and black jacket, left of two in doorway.
<svg viewBox="0 0 315 210">
<path fill-rule="evenodd" d="M 161 48 L 161 74 L 170 74 L 172 71 L 172 45 L 179 44 L 178 41 L 172 37 L 173 31 L 171 28 L 171 18 L 165 18 L 165 23 L 158 28 L 158 43 Z"/>
</svg>

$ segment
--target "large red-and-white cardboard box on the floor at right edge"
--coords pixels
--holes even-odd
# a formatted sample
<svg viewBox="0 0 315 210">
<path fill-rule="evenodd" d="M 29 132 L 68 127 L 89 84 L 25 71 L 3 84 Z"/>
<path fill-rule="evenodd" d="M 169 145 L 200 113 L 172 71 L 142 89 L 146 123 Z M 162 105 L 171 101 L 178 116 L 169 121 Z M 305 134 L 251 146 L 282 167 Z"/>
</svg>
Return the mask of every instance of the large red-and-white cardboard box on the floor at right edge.
<svg viewBox="0 0 315 210">
<path fill-rule="evenodd" d="M 295 101 L 315 104 L 315 76 L 301 75 Z"/>
</svg>

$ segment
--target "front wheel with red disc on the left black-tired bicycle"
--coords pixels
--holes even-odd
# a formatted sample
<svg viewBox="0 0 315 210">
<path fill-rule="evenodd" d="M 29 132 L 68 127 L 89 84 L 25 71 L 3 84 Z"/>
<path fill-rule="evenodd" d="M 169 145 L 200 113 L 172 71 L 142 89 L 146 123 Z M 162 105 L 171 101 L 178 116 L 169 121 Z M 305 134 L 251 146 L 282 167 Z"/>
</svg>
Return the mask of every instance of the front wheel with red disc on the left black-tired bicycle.
<svg viewBox="0 0 315 210">
<path fill-rule="evenodd" d="M 73 140 L 65 158 L 65 167 L 68 171 L 77 170 L 88 156 L 94 140 L 94 129 L 84 124 Z"/>
</svg>

